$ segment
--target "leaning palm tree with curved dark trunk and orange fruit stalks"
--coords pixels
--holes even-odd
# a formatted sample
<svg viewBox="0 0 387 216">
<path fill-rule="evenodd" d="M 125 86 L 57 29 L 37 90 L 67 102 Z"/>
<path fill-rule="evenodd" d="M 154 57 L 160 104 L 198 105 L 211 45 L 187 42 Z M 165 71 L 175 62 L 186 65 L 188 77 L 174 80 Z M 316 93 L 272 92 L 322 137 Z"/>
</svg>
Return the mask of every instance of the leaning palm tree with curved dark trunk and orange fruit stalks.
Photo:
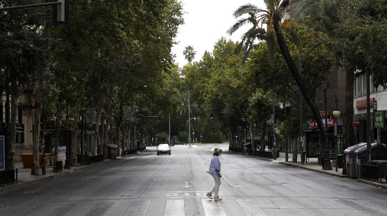
<svg viewBox="0 0 387 216">
<path fill-rule="evenodd" d="M 240 43 L 238 51 L 243 50 L 243 52 L 245 53 L 244 61 L 246 61 L 255 39 L 266 39 L 269 56 L 272 64 L 275 47 L 274 41 L 275 37 L 277 38 L 277 43 L 281 50 L 281 54 L 284 57 L 284 60 L 288 65 L 289 70 L 293 75 L 293 78 L 295 79 L 298 87 L 300 88 L 304 99 L 308 103 L 312 111 L 313 117 L 317 121 L 317 125 L 319 126 L 320 138 L 321 140 L 325 140 L 325 131 L 322 123 L 322 118 L 319 114 L 319 109 L 317 108 L 316 102 L 312 100 L 312 97 L 310 96 L 310 92 L 307 90 L 307 87 L 303 83 L 300 73 L 293 59 L 290 56 L 288 46 L 286 45 L 282 33 L 281 22 L 284 20 L 284 25 L 289 26 L 289 21 L 285 20 L 284 16 L 284 14 L 286 14 L 286 12 L 290 10 L 290 8 L 288 7 L 289 0 L 264 0 L 264 2 L 266 5 L 266 9 L 260 9 L 252 4 L 245 4 L 236 9 L 233 14 L 236 19 L 245 14 L 248 14 L 249 16 L 247 18 L 242 18 L 238 20 L 228 30 L 228 33 L 231 35 L 241 26 L 248 23 L 253 24 L 253 27 L 242 36 L 242 41 Z M 266 31 L 262 29 L 262 24 L 267 24 Z"/>
</svg>

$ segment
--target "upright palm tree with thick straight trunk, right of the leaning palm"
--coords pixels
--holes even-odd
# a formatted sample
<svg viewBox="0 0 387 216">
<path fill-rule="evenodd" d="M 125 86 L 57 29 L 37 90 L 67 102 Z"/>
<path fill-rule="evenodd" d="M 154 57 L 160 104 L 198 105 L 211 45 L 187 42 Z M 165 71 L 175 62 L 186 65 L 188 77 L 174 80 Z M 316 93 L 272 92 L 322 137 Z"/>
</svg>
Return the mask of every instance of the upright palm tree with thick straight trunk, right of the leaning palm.
<svg viewBox="0 0 387 216">
<path fill-rule="evenodd" d="M 334 47 L 337 52 L 336 58 L 341 60 L 344 69 L 346 70 L 346 95 L 345 95 L 345 119 L 348 131 L 347 142 L 345 148 L 357 143 L 353 128 L 353 84 L 354 72 L 356 65 L 350 62 L 356 62 L 356 47 L 350 46 L 339 34 L 335 31 L 335 25 L 339 24 L 342 10 L 348 5 L 348 0 L 293 0 L 292 6 L 298 12 L 298 18 L 305 21 L 305 17 L 310 19 L 305 22 L 309 27 L 316 31 L 324 33 L 320 38 L 316 38 L 311 44 L 307 54 L 313 49 L 322 44 L 327 44 Z M 341 46 L 337 46 L 341 44 Z M 346 50 L 340 47 L 345 47 Z M 350 53 L 349 55 L 346 53 Z M 306 55 L 307 56 L 307 55 Z M 345 149 L 344 148 L 344 149 Z M 345 160 L 345 158 L 344 158 Z M 346 174 L 346 168 L 343 167 L 343 174 Z"/>
</svg>

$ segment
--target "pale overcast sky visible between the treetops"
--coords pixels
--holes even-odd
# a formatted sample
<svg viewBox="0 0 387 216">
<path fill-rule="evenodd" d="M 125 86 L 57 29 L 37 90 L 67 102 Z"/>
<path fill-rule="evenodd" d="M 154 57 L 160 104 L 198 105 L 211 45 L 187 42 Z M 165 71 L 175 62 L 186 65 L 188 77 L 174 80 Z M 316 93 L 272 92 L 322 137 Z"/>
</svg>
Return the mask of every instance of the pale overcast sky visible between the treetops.
<svg viewBox="0 0 387 216">
<path fill-rule="evenodd" d="M 216 41 L 221 37 L 240 41 L 240 37 L 251 26 L 244 26 L 229 36 L 226 31 L 237 21 L 233 12 L 241 5 L 252 3 L 264 8 L 263 0 L 180 0 L 183 4 L 184 22 L 180 26 L 172 53 L 176 54 L 175 63 L 180 67 L 188 63 L 183 56 L 186 46 L 192 46 L 196 51 L 194 61 L 200 61 L 204 51 L 212 53 Z"/>
</svg>

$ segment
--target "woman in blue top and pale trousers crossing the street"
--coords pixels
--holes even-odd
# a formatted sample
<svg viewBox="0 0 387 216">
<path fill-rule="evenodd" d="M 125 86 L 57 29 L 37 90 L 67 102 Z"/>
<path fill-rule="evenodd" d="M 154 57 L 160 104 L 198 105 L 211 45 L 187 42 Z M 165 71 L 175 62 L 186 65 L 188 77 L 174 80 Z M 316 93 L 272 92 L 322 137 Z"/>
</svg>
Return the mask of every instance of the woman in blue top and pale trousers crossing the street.
<svg viewBox="0 0 387 216">
<path fill-rule="evenodd" d="M 211 158 L 211 164 L 210 164 L 210 175 L 214 178 L 215 184 L 212 186 L 211 190 L 207 192 L 207 197 L 212 199 L 212 193 L 214 194 L 214 200 L 222 200 L 222 198 L 219 198 L 219 186 L 221 184 L 220 178 L 222 175 L 220 174 L 220 161 L 219 156 L 222 155 L 222 149 L 215 148 L 214 153 L 212 154 Z"/>
</svg>

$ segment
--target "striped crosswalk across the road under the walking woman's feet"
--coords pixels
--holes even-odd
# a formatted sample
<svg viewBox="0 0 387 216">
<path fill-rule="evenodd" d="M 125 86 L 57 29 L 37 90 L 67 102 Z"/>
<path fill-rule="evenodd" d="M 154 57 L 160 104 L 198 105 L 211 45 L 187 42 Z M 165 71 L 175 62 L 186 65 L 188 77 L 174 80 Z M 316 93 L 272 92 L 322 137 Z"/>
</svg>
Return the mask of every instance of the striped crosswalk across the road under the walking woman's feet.
<svg viewBox="0 0 387 216">
<path fill-rule="evenodd" d="M 177 195 L 180 196 L 180 195 Z M 386 215 L 387 207 L 377 201 L 330 197 L 240 197 L 224 196 L 222 201 L 207 197 L 160 199 L 147 197 L 49 202 L 34 208 L 0 208 L 0 215 L 106 215 L 106 216 L 271 216 L 271 215 Z M 372 207 L 372 208 L 371 208 Z M 22 214 L 14 214 L 17 213 Z M 27 213 L 29 211 L 29 213 Z M 26 214 L 24 214 L 24 212 Z"/>
</svg>

